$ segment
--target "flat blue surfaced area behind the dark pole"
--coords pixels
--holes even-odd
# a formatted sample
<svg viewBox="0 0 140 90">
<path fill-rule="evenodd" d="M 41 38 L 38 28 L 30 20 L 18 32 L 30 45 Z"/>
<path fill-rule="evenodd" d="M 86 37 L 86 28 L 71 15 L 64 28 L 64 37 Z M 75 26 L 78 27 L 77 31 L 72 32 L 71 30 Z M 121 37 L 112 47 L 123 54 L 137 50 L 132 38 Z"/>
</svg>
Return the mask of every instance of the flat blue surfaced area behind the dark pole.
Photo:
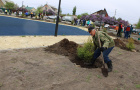
<svg viewBox="0 0 140 90">
<path fill-rule="evenodd" d="M 0 16 L 0 36 L 54 35 L 55 24 Z M 59 25 L 58 35 L 89 35 L 71 26 Z"/>
</svg>

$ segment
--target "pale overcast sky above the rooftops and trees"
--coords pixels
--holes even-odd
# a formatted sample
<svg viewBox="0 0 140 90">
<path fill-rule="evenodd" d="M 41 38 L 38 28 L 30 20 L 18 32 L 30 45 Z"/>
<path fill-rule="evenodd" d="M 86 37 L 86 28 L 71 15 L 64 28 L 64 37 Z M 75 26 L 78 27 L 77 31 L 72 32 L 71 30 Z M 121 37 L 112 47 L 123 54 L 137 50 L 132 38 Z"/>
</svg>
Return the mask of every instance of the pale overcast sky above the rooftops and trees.
<svg viewBox="0 0 140 90">
<path fill-rule="evenodd" d="M 12 0 L 19 6 L 24 1 L 25 6 L 37 8 L 46 3 L 58 8 L 59 0 Z M 98 10 L 106 8 L 109 16 L 114 16 L 116 10 L 116 18 L 121 17 L 134 24 L 140 18 L 140 0 L 61 0 L 62 13 L 72 14 L 73 7 L 77 7 L 77 13 L 94 13 Z"/>
</svg>

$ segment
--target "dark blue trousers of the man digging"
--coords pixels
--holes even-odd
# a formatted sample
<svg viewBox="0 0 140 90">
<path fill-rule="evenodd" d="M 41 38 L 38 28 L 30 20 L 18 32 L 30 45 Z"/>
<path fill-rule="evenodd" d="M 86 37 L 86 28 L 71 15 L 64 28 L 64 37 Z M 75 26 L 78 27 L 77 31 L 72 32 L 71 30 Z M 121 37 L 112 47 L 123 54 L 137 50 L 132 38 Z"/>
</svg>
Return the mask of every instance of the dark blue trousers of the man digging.
<svg viewBox="0 0 140 90">
<path fill-rule="evenodd" d="M 110 52 L 112 51 L 114 47 L 108 48 L 107 50 L 103 51 L 103 58 L 104 58 L 104 62 L 108 63 L 109 61 L 111 61 L 108 57 L 108 55 L 110 54 Z M 101 51 L 100 49 L 96 49 L 93 55 L 93 60 L 95 61 L 99 56 L 101 55 Z M 93 61 L 93 62 L 94 62 Z"/>
</svg>

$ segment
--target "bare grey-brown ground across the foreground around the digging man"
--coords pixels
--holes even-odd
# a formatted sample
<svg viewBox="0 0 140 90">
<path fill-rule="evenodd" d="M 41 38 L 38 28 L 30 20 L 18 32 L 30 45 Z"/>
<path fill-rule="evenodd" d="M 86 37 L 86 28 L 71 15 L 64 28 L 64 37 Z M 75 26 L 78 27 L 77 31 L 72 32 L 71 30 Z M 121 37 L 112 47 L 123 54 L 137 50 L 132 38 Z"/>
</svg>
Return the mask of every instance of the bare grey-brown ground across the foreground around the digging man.
<svg viewBox="0 0 140 90">
<path fill-rule="evenodd" d="M 69 45 L 71 41 L 66 43 Z M 61 45 L 56 47 L 61 49 L 60 53 L 67 46 L 60 42 L 57 44 Z M 72 45 L 77 46 L 75 43 Z M 100 68 L 81 68 L 72 63 L 70 57 L 75 50 L 66 50 L 65 53 L 73 53 L 62 55 L 56 54 L 54 47 L 53 53 L 46 48 L 0 51 L 0 90 L 140 89 L 140 53 L 115 47 L 109 56 L 114 69 L 105 78 Z"/>
</svg>

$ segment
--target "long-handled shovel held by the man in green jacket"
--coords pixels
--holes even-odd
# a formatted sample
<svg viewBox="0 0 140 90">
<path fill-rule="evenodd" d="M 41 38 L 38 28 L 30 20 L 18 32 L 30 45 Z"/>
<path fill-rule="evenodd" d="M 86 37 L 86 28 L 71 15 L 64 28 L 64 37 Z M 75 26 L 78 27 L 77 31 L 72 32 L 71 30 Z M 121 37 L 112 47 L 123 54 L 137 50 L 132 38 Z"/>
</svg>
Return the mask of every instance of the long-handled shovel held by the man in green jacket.
<svg viewBox="0 0 140 90">
<path fill-rule="evenodd" d="M 97 29 L 97 33 L 98 33 L 98 29 Z M 98 33 L 98 41 L 99 41 L 99 47 L 101 47 L 101 41 L 100 41 L 99 33 Z M 108 70 L 107 70 L 107 68 L 105 68 L 105 62 L 104 62 L 104 59 L 103 59 L 103 53 L 102 52 L 101 52 L 101 56 L 102 56 L 102 61 L 103 61 L 103 67 L 101 68 L 101 71 L 102 71 L 103 76 L 107 77 L 108 76 Z"/>
</svg>

